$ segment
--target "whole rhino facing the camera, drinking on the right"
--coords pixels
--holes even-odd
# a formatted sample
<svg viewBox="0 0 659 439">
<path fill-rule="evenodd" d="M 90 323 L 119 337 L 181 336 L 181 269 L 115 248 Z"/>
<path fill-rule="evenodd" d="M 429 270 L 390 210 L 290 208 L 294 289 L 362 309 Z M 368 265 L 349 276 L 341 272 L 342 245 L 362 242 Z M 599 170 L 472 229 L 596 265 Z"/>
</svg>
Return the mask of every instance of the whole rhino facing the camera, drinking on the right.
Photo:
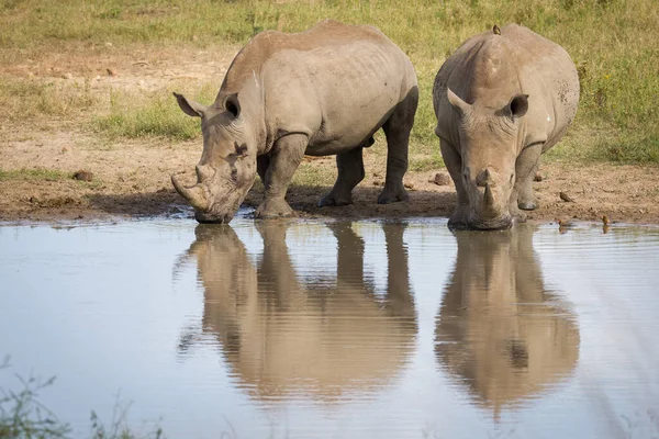
<svg viewBox="0 0 659 439">
<path fill-rule="evenodd" d="M 442 66 L 433 87 L 444 162 L 458 194 L 451 227 L 506 228 L 537 207 L 540 155 L 563 136 L 579 103 L 568 53 L 524 26 L 484 32 Z"/>
</svg>

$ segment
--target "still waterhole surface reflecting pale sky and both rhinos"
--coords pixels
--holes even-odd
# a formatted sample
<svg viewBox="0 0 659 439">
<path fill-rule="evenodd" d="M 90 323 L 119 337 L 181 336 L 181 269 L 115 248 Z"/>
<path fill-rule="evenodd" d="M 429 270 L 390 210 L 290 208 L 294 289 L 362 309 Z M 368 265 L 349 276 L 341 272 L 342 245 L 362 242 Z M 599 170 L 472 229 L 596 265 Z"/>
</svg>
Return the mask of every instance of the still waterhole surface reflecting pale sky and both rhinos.
<svg viewBox="0 0 659 439">
<path fill-rule="evenodd" d="M 4 226 L 0 387 L 79 436 L 657 437 L 658 284 L 658 228 Z"/>
</svg>

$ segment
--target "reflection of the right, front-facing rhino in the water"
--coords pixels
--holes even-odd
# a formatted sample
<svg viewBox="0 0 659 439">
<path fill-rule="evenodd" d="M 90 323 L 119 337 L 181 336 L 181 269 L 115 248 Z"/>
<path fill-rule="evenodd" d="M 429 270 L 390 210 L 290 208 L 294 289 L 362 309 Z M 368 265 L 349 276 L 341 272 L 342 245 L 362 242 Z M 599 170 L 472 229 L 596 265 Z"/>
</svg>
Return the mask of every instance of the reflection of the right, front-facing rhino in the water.
<svg viewBox="0 0 659 439">
<path fill-rule="evenodd" d="M 579 356 L 574 316 L 547 292 L 533 229 L 459 232 L 458 257 L 435 329 L 435 353 L 499 416 L 569 375 Z"/>
</svg>

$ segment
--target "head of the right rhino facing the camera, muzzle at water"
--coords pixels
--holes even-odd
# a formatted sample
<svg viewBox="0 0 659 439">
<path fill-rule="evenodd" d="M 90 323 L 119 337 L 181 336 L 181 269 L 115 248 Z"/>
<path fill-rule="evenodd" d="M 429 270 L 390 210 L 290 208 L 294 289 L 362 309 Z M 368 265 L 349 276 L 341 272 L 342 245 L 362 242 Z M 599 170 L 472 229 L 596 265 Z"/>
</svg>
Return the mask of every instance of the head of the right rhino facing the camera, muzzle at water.
<svg viewBox="0 0 659 439">
<path fill-rule="evenodd" d="M 460 115 L 459 136 L 462 180 L 469 196 L 470 226 L 506 228 L 512 224 L 510 205 L 515 185 L 515 162 L 523 147 L 520 119 L 528 110 L 528 95 L 510 97 L 491 108 L 469 104 L 447 89 L 448 101 Z"/>
</svg>

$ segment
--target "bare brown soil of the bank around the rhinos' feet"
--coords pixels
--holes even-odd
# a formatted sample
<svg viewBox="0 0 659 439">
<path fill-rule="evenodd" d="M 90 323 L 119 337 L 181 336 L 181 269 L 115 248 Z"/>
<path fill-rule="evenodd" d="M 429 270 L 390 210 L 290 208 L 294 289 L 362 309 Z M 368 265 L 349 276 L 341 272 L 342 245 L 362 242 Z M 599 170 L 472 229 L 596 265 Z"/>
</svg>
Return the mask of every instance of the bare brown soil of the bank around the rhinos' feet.
<svg viewBox="0 0 659 439">
<path fill-rule="evenodd" d="M 40 60 L 14 57 L 19 61 L 0 66 L 0 79 L 45 78 L 49 81 L 91 81 L 92 92 L 109 89 L 163 90 L 172 81 L 221 83 L 236 47 L 199 50 L 145 48 L 130 53 L 112 47 L 49 54 Z M 426 97 L 428 98 L 428 97 Z M 192 211 L 171 188 L 169 176 L 183 173 L 193 179 L 201 154 L 201 140 L 170 143 L 158 139 L 107 140 L 89 132 L 85 115 L 72 120 L 11 122 L 0 120 L 0 169 L 45 168 L 66 172 L 71 178 L 0 179 L 0 221 L 68 222 L 105 221 L 116 217 L 192 216 Z M 315 206 L 328 187 L 292 185 L 288 200 L 302 216 L 328 217 L 410 217 L 448 216 L 456 202 L 453 183 L 429 182 L 437 172 L 409 172 L 410 202 L 378 205 L 384 165 L 381 155 L 367 154 L 367 178 L 355 190 L 355 203 L 345 207 Z M 314 167 L 334 168 L 333 157 L 312 159 Z M 72 178 L 75 172 L 90 172 Z M 540 209 L 532 219 L 557 218 L 659 224 L 659 168 L 574 165 L 551 162 L 540 169 L 543 180 L 535 182 Z M 91 177 L 91 181 L 88 177 Z M 260 184 L 246 200 L 256 205 Z M 562 201 L 559 193 L 573 202 Z"/>
</svg>

